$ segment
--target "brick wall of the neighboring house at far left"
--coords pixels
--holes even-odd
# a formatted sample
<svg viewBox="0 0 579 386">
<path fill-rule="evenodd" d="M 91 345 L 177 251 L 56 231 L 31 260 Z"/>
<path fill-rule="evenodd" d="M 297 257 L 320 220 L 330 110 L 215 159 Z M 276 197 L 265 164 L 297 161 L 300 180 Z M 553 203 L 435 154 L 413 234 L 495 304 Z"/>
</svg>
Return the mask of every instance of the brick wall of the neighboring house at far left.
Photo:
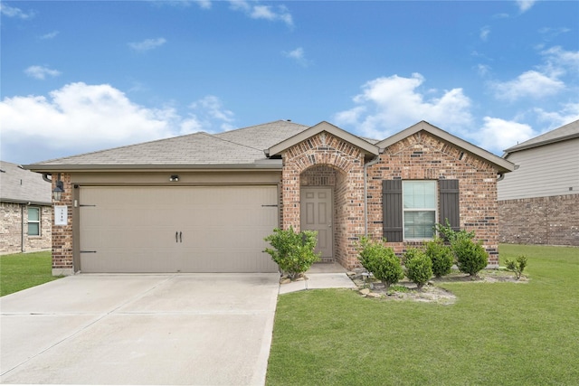
<svg viewBox="0 0 579 386">
<path fill-rule="evenodd" d="M 51 248 L 52 207 L 30 206 L 40 208 L 40 236 L 28 235 L 28 205 L 0 202 L 0 219 L 2 219 L 0 254 L 35 252 Z"/>
</svg>

